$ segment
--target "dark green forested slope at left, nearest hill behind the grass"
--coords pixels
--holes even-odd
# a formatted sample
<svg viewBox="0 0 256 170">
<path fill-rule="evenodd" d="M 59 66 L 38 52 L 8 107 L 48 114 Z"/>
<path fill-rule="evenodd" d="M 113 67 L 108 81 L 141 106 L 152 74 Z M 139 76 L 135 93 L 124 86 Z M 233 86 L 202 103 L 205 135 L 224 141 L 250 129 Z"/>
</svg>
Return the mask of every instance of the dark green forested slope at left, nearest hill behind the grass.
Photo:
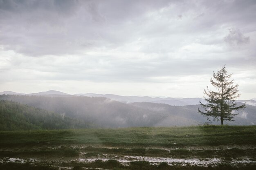
<svg viewBox="0 0 256 170">
<path fill-rule="evenodd" d="M 72 119 L 41 108 L 0 100 L 0 130 L 86 128 L 84 120 Z"/>
</svg>

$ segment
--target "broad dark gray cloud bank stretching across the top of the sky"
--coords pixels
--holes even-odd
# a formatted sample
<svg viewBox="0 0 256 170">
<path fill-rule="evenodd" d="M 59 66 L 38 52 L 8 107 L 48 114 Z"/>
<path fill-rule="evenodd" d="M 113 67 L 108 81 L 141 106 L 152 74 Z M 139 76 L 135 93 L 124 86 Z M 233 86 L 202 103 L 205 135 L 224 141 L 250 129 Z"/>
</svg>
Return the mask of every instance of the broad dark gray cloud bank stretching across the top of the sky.
<svg viewBox="0 0 256 170">
<path fill-rule="evenodd" d="M 0 3 L 0 29 L 4 33 L 0 34 L 0 44 L 30 56 L 115 49 L 138 38 L 144 40 L 141 49 L 145 53 L 168 52 L 170 46 L 177 49 L 177 43 L 202 32 L 216 32 L 223 23 L 236 26 L 251 20 L 254 16 L 249 17 L 248 13 L 252 14 L 255 4 L 176 0 L 3 0 Z M 172 41 L 169 46 L 162 45 L 164 38 L 167 43 Z M 159 45 L 155 45 L 157 41 Z"/>
</svg>

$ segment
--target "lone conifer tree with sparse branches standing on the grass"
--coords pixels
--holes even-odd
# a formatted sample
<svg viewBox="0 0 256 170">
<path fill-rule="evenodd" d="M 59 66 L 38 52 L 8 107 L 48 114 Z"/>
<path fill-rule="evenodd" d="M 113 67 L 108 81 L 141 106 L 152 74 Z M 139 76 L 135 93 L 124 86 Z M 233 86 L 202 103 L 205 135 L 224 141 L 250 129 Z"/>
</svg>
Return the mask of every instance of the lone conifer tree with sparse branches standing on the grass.
<svg viewBox="0 0 256 170">
<path fill-rule="evenodd" d="M 218 92 L 204 89 L 204 97 L 207 104 L 202 104 L 200 101 L 200 106 L 202 106 L 205 111 L 201 111 L 198 108 L 198 112 L 207 117 L 213 117 L 213 120 L 221 120 L 221 125 L 223 125 L 223 120 L 234 121 L 234 116 L 238 115 L 233 113 L 233 110 L 240 110 L 245 108 L 245 104 L 242 106 L 236 105 L 236 98 L 240 96 L 238 93 L 238 84 L 233 86 L 233 80 L 230 80 L 232 74 L 227 74 L 225 66 L 222 66 L 217 73 L 213 71 L 213 78 L 210 79 L 211 84 L 217 88 Z"/>
</svg>

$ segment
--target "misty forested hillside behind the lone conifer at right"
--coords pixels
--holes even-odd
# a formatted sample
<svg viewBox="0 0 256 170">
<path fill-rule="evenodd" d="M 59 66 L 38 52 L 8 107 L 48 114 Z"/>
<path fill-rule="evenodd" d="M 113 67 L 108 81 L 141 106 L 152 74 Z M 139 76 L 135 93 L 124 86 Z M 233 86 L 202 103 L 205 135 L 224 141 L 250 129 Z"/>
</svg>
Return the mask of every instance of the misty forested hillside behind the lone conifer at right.
<svg viewBox="0 0 256 170">
<path fill-rule="evenodd" d="M 242 103 L 237 103 L 239 106 Z M 203 110 L 199 105 L 188 106 L 170 106 L 168 104 L 153 104 L 148 102 L 133 103 L 132 105 L 146 108 L 148 110 L 159 110 L 159 112 L 167 115 L 165 119 L 158 122 L 156 126 L 187 126 L 198 125 L 204 123 L 210 123 L 206 117 L 203 117 L 198 113 L 198 108 Z M 229 125 L 254 125 L 256 124 L 256 107 L 246 105 L 246 108 L 242 111 L 235 111 L 239 113 L 235 116 L 235 121 L 225 121 L 225 124 Z M 220 122 L 213 121 L 211 124 L 220 124 Z"/>
</svg>

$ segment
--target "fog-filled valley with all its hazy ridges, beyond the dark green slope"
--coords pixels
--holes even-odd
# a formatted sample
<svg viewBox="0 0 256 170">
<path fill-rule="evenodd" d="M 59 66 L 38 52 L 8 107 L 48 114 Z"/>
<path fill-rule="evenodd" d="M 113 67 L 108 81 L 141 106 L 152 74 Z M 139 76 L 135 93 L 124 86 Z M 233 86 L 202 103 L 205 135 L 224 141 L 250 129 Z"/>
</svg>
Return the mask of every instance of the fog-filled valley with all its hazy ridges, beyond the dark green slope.
<svg viewBox="0 0 256 170">
<path fill-rule="evenodd" d="M 2 94 L 4 93 L 4 94 Z M 47 110 L 60 120 L 73 119 L 64 128 L 119 128 L 144 126 L 197 126 L 219 124 L 198 113 L 200 98 L 160 98 L 93 93 L 69 95 L 59 91 L 32 94 L 2 92 L 0 100 Z M 238 105 L 245 101 L 238 100 Z M 4 104 L 4 103 L 2 103 Z M 247 107 L 229 125 L 256 124 L 256 101 L 248 100 Z M 40 113 L 33 113 L 34 115 Z M 29 115 L 27 115 L 29 116 Z M 2 120 L 4 121 L 4 120 Z M 62 121 L 62 120 L 61 120 Z M 56 127 L 60 128 L 60 127 Z"/>
</svg>

